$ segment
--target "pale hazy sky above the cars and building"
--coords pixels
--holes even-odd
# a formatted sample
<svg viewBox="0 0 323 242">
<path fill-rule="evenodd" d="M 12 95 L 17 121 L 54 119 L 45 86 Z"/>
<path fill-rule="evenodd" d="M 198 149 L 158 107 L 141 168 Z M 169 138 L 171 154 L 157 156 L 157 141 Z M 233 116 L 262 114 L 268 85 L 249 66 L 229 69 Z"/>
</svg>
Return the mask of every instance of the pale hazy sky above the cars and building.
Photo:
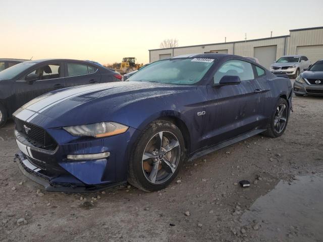
<svg viewBox="0 0 323 242">
<path fill-rule="evenodd" d="M 0 0 L 0 58 L 74 58 L 101 64 L 179 46 L 288 35 L 323 26 L 322 0 Z"/>
</svg>

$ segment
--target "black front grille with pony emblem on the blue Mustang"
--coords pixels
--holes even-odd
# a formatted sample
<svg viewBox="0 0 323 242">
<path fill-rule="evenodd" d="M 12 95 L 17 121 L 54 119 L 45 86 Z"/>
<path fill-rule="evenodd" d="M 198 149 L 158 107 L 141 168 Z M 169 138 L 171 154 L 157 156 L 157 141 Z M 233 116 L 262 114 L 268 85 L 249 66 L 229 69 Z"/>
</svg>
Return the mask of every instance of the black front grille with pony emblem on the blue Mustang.
<svg viewBox="0 0 323 242">
<path fill-rule="evenodd" d="M 33 146 L 49 151 L 57 148 L 56 141 L 44 129 L 18 118 L 15 118 L 15 123 L 16 130 Z"/>
</svg>

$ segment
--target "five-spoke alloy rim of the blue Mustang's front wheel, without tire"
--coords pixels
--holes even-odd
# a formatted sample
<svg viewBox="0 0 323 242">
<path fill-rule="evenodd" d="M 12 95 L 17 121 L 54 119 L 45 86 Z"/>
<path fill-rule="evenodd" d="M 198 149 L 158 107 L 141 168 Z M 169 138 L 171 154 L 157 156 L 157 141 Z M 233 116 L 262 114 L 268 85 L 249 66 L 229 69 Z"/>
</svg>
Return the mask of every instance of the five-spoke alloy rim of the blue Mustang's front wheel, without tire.
<svg viewBox="0 0 323 242">
<path fill-rule="evenodd" d="M 155 134 L 142 155 L 142 170 L 152 184 L 165 183 L 175 173 L 180 161 L 178 138 L 169 131 Z"/>
</svg>

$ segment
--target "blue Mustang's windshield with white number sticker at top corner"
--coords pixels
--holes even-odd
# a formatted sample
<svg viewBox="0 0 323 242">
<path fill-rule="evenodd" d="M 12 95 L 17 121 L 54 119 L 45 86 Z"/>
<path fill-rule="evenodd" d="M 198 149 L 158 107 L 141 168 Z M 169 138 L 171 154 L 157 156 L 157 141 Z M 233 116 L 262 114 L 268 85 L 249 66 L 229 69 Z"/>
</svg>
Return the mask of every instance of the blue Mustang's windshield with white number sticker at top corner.
<svg viewBox="0 0 323 242">
<path fill-rule="evenodd" d="M 166 59 L 140 69 L 129 81 L 191 85 L 199 82 L 213 65 L 214 59 Z"/>
</svg>

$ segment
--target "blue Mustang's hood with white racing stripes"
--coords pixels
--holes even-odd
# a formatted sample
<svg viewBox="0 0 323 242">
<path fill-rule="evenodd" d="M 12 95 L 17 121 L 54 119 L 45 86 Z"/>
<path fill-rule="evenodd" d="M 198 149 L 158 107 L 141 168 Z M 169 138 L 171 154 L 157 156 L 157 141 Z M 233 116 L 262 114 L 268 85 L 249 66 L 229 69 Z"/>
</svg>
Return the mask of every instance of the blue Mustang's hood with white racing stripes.
<svg viewBox="0 0 323 242">
<path fill-rule="evenodd" d="M 129 120 L 125 106 L 141 108 L 138 102 L 152 103 L 160 98 L 196 90 L 196 86 L 173 85 L 151 82 L 115 82 L 85 85 L 49 92 L 37 97 L 20 109 L 14 116 L 26 122 L 55 128 L 91 124 L 106 121 Z M 184 95 L 185 93 L 185 95 Z M 181 97 L 183 99 L 183 97 Z M 151 99 L 151 100 L 147 100 Z M 173 100 L 168 98 L 169 101 Z M 166 101 L 163 101 L 164 104 Z M 152 105 L 152 104 L 151 104 Z M 126 121 L 123 121 L 123 124 Z M 126 124 L 127 125 L 127 124 Z"/>
</svg>

